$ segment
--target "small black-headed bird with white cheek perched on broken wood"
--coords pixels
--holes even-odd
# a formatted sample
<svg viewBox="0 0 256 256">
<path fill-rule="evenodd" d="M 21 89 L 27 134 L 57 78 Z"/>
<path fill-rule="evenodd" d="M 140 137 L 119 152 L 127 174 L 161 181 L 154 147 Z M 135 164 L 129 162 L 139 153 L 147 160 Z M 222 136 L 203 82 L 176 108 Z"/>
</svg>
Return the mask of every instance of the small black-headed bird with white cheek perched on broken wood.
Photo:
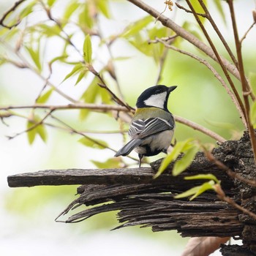
<svg viewBox="0 0 256 256">
<path fill-rule="evenodd" d="M 152 86 L 140 94 L 128 132 L 131 140 L 115 157 L 127 156 L 134 149 L 138 153 L 140 167 L 143 157 L 155 156 L 160 152 L 167 154 L 175 129 L 167 101 L 170 92 L 176 87 Z"/>
</svg>

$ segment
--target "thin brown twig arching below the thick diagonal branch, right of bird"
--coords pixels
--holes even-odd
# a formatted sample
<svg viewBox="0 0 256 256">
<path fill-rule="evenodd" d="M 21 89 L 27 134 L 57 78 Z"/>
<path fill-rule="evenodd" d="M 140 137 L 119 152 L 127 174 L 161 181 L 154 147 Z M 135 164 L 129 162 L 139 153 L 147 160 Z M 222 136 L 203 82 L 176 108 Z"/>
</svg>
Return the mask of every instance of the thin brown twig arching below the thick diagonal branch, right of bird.
<svg viewBox="0 0 256 256">
<path fill-rule="evenodd" d="M 238 100 L 236 99 L 235 94 L 233 94 L 233 91 L 231 91 L 229 89 L 229 87 L 227 86 L 227 84 L 225 83 L 225 80 L 222 79 L 222 77 L 219 75 L 219 73 L 217 72 L 216 69 L 214 69 L 214 67 L 211 66 L 211 64 L 208 63 L 208 61 L 206 61 L 205 59 L 201 59 L 200 57 L 196 56 L 193 53 L 189 53 L 186 50 L 181 50 L 179 48 L 176 48 L 173 45 L 169 45 L 166 42 L 164 42 L 162 39 L 156 38 L 155 40 L 152 40 L 150 42 L 161 42 L 163 45 L 165 45 L 166 48 L 170 48 L 172 50 L 176 50 L 178 53 L 182 53 L 185 54 L 187 56 L 192 57 L 193 59 L 196 59 L 197 61 L 200 61 L 200 63 L 206 65 L 206 67 L 208 67 L 208 69 L 211 70 L 211 72 L 214 74 L 214 76 L 219 80 L 219 82 L 222 84 L 222 86 L 225 88 L 225 90 L 227 91 L 227 94 L 230 95 L 231 100 L 233 101 L 234 105 L 236 106 L 236 109 L 238 110 L 239 115 L 241 116 L 241 120 L 243 121 L 244 126 L 246 127 L 246 119 L 244 117 L 243 111 L 241 110 L 241 107 L 239 105 Z"/>
</svg>

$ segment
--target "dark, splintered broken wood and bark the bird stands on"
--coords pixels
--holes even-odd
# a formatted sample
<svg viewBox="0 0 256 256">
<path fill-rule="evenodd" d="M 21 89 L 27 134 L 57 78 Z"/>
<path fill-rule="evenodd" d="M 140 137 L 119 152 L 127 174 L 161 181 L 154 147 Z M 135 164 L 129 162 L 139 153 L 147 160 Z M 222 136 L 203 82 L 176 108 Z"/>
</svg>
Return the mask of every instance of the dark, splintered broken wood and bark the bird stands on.
<svg viewBox="0 0 256 256">
<path fill-rule="evenodd" d="M 227 141 L 213 151 L 214 157 L 225 163 L 238 175 L 256 179 L 255 162 L 249 137 Z M 174 195 L 202 184 L 203 181 L 184 180 L 185 176 L 212 173 L 222 181 L 222 189 L 236 203 L 256 213 L 256 188 L 233 180 L 198 153 L 192 165 L 179 176 L 171 175 L 170 165 L 165 173 L 153 179 L 161 159 L 151 168 L 102 169 L 102 170 L 46 170 L 8 177 L 10 187 L 83 184 L 78 187 L 78 197 L 60 215 L 72 208 L 83 208 L 65 222 L 80 222 L 95 214 L 118 210 L 120 226 L 140 225 L 153 231 L 178 230 L 181 236 L 236 236 L 243 239 L 243 246 L 223 246 L 223 255 L 256 253 L 256 220 L 242 214 L 233 206 L 220 201 L 214 192 L 203 193 L 195 200 L 176 200 Z M 100 203 L 100 205 L 99 205 Z M 103 204 L 102 204 L 103 203 Z M 59 219 L 59 217 L 57 219 Z M 58 220 L 59 221 L 59 220 Z"/>
</svg>

